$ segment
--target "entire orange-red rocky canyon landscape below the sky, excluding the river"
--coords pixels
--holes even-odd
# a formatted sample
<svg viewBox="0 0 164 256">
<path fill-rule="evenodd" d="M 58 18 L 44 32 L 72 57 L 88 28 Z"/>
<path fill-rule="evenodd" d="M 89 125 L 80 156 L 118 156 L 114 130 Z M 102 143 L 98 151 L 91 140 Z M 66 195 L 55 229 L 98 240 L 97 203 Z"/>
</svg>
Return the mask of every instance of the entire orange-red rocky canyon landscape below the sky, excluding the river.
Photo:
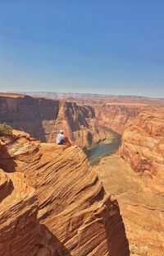
<svg viewBox="0 0 164 256">
<path fill-rule="evenodd" d="M 21 129 L 0 143 L 3 254 L 162 255 L 163 100 L 39 96 L 0 95 L 0 122 Z M 77 146 L 53 143 L 60 128 Z M 112 130 L 117 153 L 92 167 L 80 147 Z"/>
</svg>

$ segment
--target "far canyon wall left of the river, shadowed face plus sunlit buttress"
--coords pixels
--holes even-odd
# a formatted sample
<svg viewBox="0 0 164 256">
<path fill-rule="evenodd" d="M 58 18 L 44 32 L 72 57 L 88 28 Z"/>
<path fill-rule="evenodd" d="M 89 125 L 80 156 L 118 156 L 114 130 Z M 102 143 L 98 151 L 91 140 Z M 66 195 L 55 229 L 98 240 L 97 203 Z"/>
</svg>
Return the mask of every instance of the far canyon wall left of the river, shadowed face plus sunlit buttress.
<svg viewBox="0 0 164 256">
<path fill-rule="evenodd" d="M 91 106 L 25 95 L 0 95 L 0 109 L 1 123 L 30 133 L 42 142 L 55 142 L 60 129 L 80 147 L 104 137 Z"/>
</svg>

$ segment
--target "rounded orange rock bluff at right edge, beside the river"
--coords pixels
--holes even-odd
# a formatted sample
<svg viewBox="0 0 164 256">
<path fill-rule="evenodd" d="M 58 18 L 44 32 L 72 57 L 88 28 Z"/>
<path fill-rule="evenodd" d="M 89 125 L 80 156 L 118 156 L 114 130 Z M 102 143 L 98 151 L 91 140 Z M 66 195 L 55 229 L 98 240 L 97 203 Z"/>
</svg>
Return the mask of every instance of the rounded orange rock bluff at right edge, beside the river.
<svg viewBox="0 0 164 256">
<path fill-rule="evenodd" d="M 119 154 L 149 187 L 164 192 L 164 108 L 144 110 L 125 128 Z"/>
</svg>

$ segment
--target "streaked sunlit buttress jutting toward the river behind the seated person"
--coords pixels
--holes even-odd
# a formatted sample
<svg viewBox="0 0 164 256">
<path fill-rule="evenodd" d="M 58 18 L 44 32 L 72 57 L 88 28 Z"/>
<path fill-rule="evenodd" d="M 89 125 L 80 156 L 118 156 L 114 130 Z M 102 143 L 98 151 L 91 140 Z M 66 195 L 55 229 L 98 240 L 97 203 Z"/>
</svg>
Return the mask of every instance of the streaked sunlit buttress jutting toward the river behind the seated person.
<svg viewBox="0 0 164 256">
<path fill-rule="evenodd" d="M 60 109 L 48 142 L 54 142 L 57 131 L 64 128 L 72 142 L 80 147 L 91 146 L 105 137 L 105 133 L 98 127 L 93 107 L 77 105 L 75 102 L 60 101 Z"/>
</svg>

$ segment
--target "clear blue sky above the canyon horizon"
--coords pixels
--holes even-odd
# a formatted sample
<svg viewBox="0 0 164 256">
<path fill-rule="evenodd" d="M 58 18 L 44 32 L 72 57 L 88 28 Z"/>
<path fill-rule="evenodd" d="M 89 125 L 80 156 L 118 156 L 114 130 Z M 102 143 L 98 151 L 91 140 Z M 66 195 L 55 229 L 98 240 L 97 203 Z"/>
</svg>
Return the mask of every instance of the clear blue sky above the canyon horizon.
<svg viewBox="0 0 164 256">
<path fill-rule="evenodd" d="M 164 97 L 164 1 L 0 0 L 0 91 Z"/>
</svg>

